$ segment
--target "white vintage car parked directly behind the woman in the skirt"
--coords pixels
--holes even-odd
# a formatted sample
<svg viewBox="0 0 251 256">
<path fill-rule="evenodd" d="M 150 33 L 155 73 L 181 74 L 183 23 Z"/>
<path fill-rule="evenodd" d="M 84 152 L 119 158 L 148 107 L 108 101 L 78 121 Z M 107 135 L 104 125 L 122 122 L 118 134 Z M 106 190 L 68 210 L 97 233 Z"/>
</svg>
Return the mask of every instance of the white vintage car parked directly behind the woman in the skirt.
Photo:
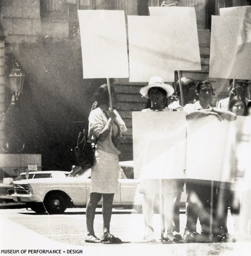
<svg viewBox="0 0 251 256">
<path fill-rule="evenodd" d="M 61 214 L 66 208 L 84 207 L 90 193 L 90 169 L 81 173 L 73 169 L 67 177 L 14 181 L 14 201 L 27 203 L 37 213 Z M 139 180 L 119 179 L 118 193 L 113 205 L 141 207 L 143 195 L 139 193 Z M 101 202 L 100 202 L 101 203 Z"/>
</svg>

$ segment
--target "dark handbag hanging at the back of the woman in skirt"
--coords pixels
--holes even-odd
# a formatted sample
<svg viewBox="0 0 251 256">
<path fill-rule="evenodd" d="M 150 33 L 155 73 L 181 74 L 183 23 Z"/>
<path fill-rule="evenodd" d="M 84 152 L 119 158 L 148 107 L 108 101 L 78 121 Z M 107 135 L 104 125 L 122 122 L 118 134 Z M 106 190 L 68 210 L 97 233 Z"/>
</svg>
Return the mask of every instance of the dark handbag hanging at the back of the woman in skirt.
<svg viewBox="0 0 251 256">
<path fill-rule="evenodd" d="M 82 169 L 88 169 L 95 163 L 95 145 L 88 140 L 85 130 L 78 135 L 77 146 L 75 147 L 75 156 L 77 165 Z"/>
</svg>

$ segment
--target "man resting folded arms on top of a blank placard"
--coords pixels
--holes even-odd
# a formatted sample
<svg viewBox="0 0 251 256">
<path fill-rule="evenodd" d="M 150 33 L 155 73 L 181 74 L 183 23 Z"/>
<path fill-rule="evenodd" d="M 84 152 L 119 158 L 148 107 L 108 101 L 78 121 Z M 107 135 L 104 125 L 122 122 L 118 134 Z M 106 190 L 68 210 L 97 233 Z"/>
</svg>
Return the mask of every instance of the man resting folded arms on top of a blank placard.
<svg viewBox="0 0 251 256">
<path fill-rule="evenodd" d="M 199 98 L 194 104 L 184 106 L 187 119 L 214 115 L 219 120 L 235 120 L 236 115 L 230 112 L 212 108 L 210 103 L 214 94 L 212 84 L 209 81 L 200 81 L 196 86 L 196 93 Z M 205 135 L 207 136 L 207 135 Z M 207 145 L 205 145 L 207 146 Z M 211 212 L 211 181 L 187 180 L 187 224 L 184 233 L 185 242 L 201 242 L 217 239 L 217 236 L 210 238 L 210 212 Z M 201 234 L 196 232 L 196 223 L 199 218 Z M 214 227 L 215 223 L 213 223 Z M 214 230 L 213 230 L 214 232 Z"/>
</svg>

